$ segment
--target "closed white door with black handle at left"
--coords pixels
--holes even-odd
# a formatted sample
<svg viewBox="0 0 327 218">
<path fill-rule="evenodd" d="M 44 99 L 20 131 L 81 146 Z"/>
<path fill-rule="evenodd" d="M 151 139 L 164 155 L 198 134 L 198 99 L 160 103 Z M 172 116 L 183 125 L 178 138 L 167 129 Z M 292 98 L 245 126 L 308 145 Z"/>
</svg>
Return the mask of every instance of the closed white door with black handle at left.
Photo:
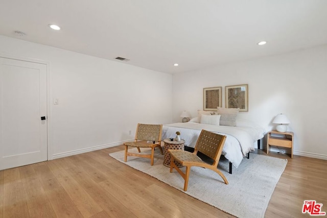
<svg viewBox="0 0 327 218">
<path fill-rule="evenodd" d="M 0 57 L 0 170 L 48 159 L 46 118 L 46 65 Z"/>
</svg>

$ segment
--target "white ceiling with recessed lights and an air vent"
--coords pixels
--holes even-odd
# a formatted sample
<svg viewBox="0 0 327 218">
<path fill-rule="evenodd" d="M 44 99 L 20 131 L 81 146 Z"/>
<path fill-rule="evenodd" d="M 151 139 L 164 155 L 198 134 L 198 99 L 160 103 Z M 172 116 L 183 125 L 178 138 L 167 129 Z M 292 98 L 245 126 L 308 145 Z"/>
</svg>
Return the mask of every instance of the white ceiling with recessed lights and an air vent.
<svg viewBox="0 0 327 218">
<path fill-rule="evenodd" d="M 0 35 L 175 74 L 327 44 L 327 1 L 0 0 Z"/>
</svg>

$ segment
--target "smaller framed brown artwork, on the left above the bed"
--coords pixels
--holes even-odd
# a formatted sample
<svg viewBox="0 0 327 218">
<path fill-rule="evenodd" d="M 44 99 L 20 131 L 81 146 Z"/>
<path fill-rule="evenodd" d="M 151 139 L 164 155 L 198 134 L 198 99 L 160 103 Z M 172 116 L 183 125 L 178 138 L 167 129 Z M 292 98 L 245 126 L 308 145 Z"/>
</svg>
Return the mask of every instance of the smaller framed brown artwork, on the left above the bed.
<svg viewBox="0 0 327 218">
<path fill-rule="evenodd" d="M 221 107 L 222 87 L 203 88 L 203 110 L 217 110 Z"/>
</svg>

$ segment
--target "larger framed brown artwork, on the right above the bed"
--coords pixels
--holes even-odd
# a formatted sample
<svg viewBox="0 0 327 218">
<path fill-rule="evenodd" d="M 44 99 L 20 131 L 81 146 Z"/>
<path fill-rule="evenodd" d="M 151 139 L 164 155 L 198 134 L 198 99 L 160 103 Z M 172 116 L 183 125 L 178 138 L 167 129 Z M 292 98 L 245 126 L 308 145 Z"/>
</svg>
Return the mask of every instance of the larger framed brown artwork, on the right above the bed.
<svg viewBox="0 0 327 218">
<path fill-rule="evenodd" d="M 249 111 L 248 85 L 225 87 L 226 108 L 240 108 L 240 111 Z"/>
</svg>

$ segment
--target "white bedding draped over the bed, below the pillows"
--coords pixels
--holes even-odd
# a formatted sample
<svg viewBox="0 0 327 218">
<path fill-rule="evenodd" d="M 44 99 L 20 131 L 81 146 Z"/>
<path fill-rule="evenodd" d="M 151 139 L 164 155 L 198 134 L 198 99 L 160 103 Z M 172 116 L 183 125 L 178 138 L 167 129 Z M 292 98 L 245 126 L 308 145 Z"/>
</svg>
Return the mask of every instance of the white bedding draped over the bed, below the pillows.
<svg viewBox="0 0 327 218">
<path fill-rule="evenodd" d="M 226 135 L 222 155 L 235 167 L 238 167 L 243 157 L 248 152 L 254 151 L 254 142 L 263 138 L 265 134 L 265 129 L 248 124 L 244 120 L 240 120 L 237 127 L 193 122 L 167 124 L 162 127 L 162 138 L 175 138 L 176 132 L 179 131 L 181 139 L 185 140 L 185 146 L 194 148 L 202 129 Z"/>
</svg>

